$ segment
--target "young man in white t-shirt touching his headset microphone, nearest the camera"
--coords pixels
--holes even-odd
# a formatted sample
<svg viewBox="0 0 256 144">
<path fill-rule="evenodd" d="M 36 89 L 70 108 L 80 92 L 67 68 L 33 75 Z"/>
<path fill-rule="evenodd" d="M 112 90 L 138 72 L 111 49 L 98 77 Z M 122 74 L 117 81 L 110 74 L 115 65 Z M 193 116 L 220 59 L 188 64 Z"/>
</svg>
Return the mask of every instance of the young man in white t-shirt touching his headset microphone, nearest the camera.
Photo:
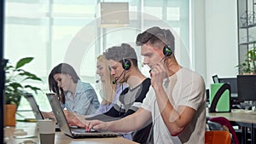
<svg viewBox="0 0 256 144">
<path fill-rule="evenodd" d="M 170 30 L 152 27 L 137 36 L 151 85 L 142 107 L 112 122 L 87 121 L 87 129 L 128 132 L 153 120 L 154 143 L 205 143 L 206 95 L 203 78 L 179 66 Z"/>
</svg>

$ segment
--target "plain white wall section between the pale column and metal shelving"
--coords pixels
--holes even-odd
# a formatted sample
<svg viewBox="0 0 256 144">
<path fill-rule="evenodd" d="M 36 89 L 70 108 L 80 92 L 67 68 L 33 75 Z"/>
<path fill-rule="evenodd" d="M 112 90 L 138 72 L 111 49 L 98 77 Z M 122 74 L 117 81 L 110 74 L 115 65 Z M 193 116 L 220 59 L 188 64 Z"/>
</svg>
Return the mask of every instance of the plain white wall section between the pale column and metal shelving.
<svg viewBox="0 0 256 144">
<path fill-rule="evenodd" d="M 236 0 L 206 1 L 207 83 L 238 74 Z"/>
</svg>

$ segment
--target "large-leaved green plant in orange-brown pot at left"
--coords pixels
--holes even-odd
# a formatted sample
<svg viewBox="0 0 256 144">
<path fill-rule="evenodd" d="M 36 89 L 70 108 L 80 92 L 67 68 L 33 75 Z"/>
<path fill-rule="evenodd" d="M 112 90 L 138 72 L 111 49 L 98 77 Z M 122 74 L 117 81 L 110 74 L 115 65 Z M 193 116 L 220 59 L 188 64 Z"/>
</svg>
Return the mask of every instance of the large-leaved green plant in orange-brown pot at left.
<svg viewBox="0 0 256 144">
<path fill-rule="evenodd" d="M 32 86 L 30 84 L 25 84 L 26 81 L 42 81 L 32 72 L 27 72 L 22 69 L 23 66 L 30 63 L 33 60 L 32 57 L 25 57 L 20 60 L 15 65 L 10 63 L 5 66 L 5 89 L 4 89 L 4 125 L 15 126 L 15 113 L 17 107 L 20 105 L 21 96 L 26 95 L 28 90 L 34 91 L 38 94 L 38 87 Z M 43 81 L 42 81 L 43 82 Z"/>
</svg>

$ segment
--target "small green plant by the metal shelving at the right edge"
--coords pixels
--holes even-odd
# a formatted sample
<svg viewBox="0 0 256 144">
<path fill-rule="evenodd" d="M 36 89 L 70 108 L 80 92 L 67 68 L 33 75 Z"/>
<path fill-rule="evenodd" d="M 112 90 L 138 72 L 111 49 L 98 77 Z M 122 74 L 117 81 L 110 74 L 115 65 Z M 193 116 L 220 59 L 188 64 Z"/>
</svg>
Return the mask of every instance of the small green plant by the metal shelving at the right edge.
<svg viewBox="0 0 256 144">
<path fill-rule="evenodd" d="M 256 47 L 247 51 L 246 59 L 243 63 L 236 66 L 239 68 L 241 74 L 255 74 L 256 73 Z"/>
</svg>

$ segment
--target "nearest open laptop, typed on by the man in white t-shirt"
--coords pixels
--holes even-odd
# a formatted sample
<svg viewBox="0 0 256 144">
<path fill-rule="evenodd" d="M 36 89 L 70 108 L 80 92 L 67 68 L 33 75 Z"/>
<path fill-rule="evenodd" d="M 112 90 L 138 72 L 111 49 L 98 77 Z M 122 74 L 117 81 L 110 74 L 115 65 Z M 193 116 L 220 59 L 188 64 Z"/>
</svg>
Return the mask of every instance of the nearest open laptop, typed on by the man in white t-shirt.
<svg viewBox="0 0 256 144">
<path fill-rule="evenodd" d="M 90 137 L 115 137 L 118 136 L 118 133 L 109 132 L 109 131 L 97 131 L 91 130 L 86 131 L 84 128 L 73 128 L 69 127 L 67 123 L 67 118 L 61 108 L 61 104 L 55 95 L 55 93 L 46 94 L 49 100 L 49 104 L 55 114 L 55 118 L 60 126 L 61 131 L 70 137 L 73 138 L 90 138 Z"/>
</svg>

